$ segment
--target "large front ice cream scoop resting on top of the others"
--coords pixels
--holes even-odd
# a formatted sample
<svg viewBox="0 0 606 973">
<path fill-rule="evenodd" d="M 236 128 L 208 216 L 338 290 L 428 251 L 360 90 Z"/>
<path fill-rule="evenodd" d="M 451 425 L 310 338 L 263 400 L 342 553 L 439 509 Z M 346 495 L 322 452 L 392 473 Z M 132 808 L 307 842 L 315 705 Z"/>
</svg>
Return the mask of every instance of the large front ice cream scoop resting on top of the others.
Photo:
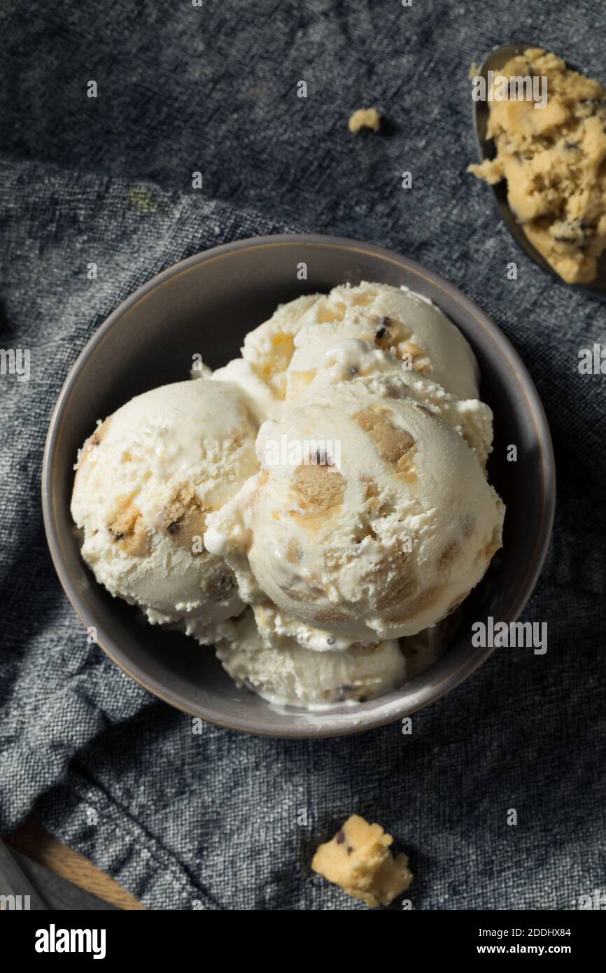
<svg viewBox="0 0 606 973">
<path fill-rule="evenodd" d="M 501 546 L 503 504 L 462 436 L 406 383 L 313 390 L 267 420 L 261 472 L 208 517 L 204 543 L 245 600 L 361 641 L 446 616 Z"/>
</svg>

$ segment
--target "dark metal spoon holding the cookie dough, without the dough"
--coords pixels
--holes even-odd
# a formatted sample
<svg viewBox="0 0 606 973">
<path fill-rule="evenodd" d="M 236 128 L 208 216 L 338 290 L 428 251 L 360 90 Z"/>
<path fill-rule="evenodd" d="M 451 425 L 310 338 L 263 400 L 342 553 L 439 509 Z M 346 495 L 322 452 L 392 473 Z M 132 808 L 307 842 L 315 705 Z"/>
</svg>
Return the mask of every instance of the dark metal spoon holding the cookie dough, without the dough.
<svg viewBox="0 0 606 973">
<path fill-rule="evenodd" d="M 528 48 L 537 47 L 536 44 L 505 44 L 501 48 L 494 48 L 490 54 L 484 58 L 481 63 L 479 74 L 485 79 L 486 85 L 488 83 L 488 71 L 500 71 L 508 60 L 515 57 L 517 54 L 523 54 Z M 567 62 L 569 68 L 573 71 L 577 71 L 578 68 Z M 474 102 L 474 128 L 476 131 L 476 140 L 478 142 L 478 149 L 480 151 L 481 162 L 484 159 L 494 159 L 496 156 L 496 146 L 492 139 L 486 138 L 486 127 L 488 125 L 488 102 L 487 101 L 475 101 Z M 564 287 L 572 287 L 576 291 L 584 291 L 589 297 L 597 298 L 598 301 L 606 302 L 606 252 L 602 254 L 597 265 L 597 275 L 594 280 L 589 284 L 566 284 L 562 278 L 553 270 L 546 259 L 539 253 L 539 251 L 532 245 L 526 234 L 524 233 L 521 225 L 517 222 L 517 219 L 512 211 L 512 208 L 507 200 L 507 181 L 502 179 L 501 182 L 496 183 L 494 186 L 490 186 L 489 189 L 492 190 L 493 198 L 496 207 L 499 211 L 501 219 L 505 223 L 505 226 L 509 230 L 510 234 L 514 237 L 517 245 L 522 248 L 527 257 L 530 257 L 535 264 L 537 264 L 541 270 L 547 270 L 560 284 Z"/>
</svg>

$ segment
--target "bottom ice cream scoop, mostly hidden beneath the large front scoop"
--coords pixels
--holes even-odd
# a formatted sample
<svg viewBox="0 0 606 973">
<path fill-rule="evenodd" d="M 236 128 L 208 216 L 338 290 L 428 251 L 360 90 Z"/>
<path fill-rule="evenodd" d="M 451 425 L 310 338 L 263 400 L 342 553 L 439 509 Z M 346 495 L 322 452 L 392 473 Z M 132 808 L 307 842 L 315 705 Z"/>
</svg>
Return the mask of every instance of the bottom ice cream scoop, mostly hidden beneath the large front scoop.
<svg viewBox="0 0 606 973">
<path fill-rule="evenodd" d="M 217 642 L 223 666 L 238 686 L 270 703 L 308 709 L 363 703 L 397 689 L 406 677 L 405 656 L 393 639 L 313 652 L 282 636 L 267 648 L 250 609 L 222 630 L 229 635 Z"/>
</svg>

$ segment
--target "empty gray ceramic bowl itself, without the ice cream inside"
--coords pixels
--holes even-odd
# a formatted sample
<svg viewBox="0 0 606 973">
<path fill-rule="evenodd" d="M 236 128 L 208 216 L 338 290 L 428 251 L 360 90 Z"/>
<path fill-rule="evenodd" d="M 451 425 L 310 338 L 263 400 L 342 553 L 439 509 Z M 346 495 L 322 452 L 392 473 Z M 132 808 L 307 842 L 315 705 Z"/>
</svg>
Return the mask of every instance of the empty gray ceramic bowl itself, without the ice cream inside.
<svg viewBox="0 0 606 973">
<path fill-rule="evenodd" d="M 297 268 L 307 265 L 307 280 Z M 507 504 L 504 548 L 464 602 L 442 658 L 388 696 L 321 713 L 277 709 L 238 690 L 215 659 L 176 632 L 147 625 L 138 611 L 97 585 L 79 554 L 69 515 L 73 464 L 97 418 L 156 385 L 188 376 L 199 352 L 212 367 L 239 354 L 247 331 L 275 306 L 349 281 L 405 284 L 431 298 L 478 356 L 482 398 L 494 412 L 490 479 Z M 505 447 L 517 444 L 517 463 Z M 474 648 L 470 624 L 487 615 L 515 621 L 549 544 L 554 506 L 553 450 L 541 403 L 516 351 L 456 287 L 380 247 L 330 236 L 267 236 L 207 250 L 139 288 L 90 339 L 56 403 L 43 471 L 47 536 L 61 584 L 107 655 L 151 693 L 220 726 L 276 737 L 356 733 L 406 716 L 466 679 L 490 655 Z M 74 624 L 77 624 L 76 622 Z"/>
</svg>

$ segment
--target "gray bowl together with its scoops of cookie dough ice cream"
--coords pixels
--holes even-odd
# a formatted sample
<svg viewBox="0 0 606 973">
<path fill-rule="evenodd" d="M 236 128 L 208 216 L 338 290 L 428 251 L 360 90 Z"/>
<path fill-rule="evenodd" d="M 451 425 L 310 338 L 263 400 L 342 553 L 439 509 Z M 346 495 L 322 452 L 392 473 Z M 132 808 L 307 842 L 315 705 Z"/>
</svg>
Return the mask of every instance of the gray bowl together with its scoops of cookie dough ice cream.
<svg viewBox="0 0 606 973">
<path fill-rule="evenodd" d="M 498 328 L 412 261 L 314 235 L 136 291 L 70 372 L 43 471 L 93 640 L 167 703 L 281 737 L 370 729 L 470 675 L 494 648 L 472 626 L 532 593 L 553 504 Z"/>
</svg>

